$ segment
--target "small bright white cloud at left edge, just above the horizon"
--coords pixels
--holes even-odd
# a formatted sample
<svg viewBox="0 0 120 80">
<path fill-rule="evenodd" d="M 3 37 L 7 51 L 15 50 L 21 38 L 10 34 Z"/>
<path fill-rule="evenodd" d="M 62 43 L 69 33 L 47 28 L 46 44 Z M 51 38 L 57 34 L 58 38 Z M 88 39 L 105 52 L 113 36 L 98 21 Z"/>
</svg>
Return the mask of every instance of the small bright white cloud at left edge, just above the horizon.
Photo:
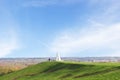
<svg viewBox="0 0 120 80">
<path fill-rule="evenodd" d="M 13 30 L 7 29 L 4 33 L 0 33 L 0 57 L 5 57 L 12 53 L 12 51 L 18 49 L 17 37 Z"/>
</svg>

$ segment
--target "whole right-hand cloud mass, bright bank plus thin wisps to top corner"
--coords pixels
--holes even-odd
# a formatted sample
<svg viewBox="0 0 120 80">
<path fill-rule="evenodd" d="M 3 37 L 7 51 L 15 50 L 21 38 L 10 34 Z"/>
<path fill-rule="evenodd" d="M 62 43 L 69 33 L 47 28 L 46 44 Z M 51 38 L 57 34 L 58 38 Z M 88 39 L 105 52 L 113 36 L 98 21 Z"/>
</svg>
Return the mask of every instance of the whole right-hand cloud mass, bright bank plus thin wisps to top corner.
<svg viewBox="0 0 120 80">
<path fill-rule="evenodd" d="M 90 1 L 92 5 L 101 3 L 98 4 L 99 12 L 89 15 L 85 26 L 78 24 L 74 26 L 77 30 L 73 28 L 72 31 L 65 30 L 57 35 L 51 44 L 52 52 L 88 54 L 97 50 L 101 56 L 120 55 L 119 1 Z M 103 53 L 99 54 L 101 50 Z"/>
</svg>

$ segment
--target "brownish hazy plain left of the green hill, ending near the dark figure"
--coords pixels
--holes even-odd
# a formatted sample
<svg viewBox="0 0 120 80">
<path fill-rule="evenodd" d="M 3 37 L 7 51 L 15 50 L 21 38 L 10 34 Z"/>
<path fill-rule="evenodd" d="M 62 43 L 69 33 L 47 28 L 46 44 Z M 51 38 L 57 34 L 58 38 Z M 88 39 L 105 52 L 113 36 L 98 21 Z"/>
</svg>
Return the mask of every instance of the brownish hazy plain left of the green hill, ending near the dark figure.
<svg viewBox="0 0 120 80">
<path fill-rule="evenodd" d="M 0 58 L 0 75 L 47 61 L 47 58 Z"/>
</svg>

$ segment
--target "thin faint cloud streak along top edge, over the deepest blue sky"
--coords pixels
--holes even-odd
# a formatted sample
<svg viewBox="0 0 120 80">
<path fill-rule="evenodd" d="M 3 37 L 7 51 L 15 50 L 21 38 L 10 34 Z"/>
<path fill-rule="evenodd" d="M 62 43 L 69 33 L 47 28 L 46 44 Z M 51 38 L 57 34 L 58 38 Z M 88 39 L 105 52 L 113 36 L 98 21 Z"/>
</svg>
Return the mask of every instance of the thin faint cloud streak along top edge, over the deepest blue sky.
<svg viewBox="0 0 120 80">
<path fill-rule="evenodd" d="M 24 1 L 23 6 L 26 7 L 46 7 L 51 5 L 68 5 L 76 4 L 82 0 L 29 0 Z"/>
</svg>

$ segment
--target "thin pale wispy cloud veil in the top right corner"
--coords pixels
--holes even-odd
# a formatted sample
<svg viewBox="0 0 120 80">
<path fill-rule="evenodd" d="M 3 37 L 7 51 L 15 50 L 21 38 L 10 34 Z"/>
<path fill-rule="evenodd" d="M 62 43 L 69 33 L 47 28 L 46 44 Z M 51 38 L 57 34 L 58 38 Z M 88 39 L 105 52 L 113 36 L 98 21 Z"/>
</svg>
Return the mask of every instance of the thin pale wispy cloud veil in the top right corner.
<svg viewBox="0 0 120 80">
<path fill-rule="evenodd" d="M 91 2 L 94 0 L 90 0 Z M 119 0 L 95 0 L 95 4 L 92 4 L 95 8 L 93 15 L 89 18 L 96 22 L 111 24 L 119 20 L 120 17 L 120 1 Z M 92 7 L 92 8 L 93 8 Z"/>
</svg>

